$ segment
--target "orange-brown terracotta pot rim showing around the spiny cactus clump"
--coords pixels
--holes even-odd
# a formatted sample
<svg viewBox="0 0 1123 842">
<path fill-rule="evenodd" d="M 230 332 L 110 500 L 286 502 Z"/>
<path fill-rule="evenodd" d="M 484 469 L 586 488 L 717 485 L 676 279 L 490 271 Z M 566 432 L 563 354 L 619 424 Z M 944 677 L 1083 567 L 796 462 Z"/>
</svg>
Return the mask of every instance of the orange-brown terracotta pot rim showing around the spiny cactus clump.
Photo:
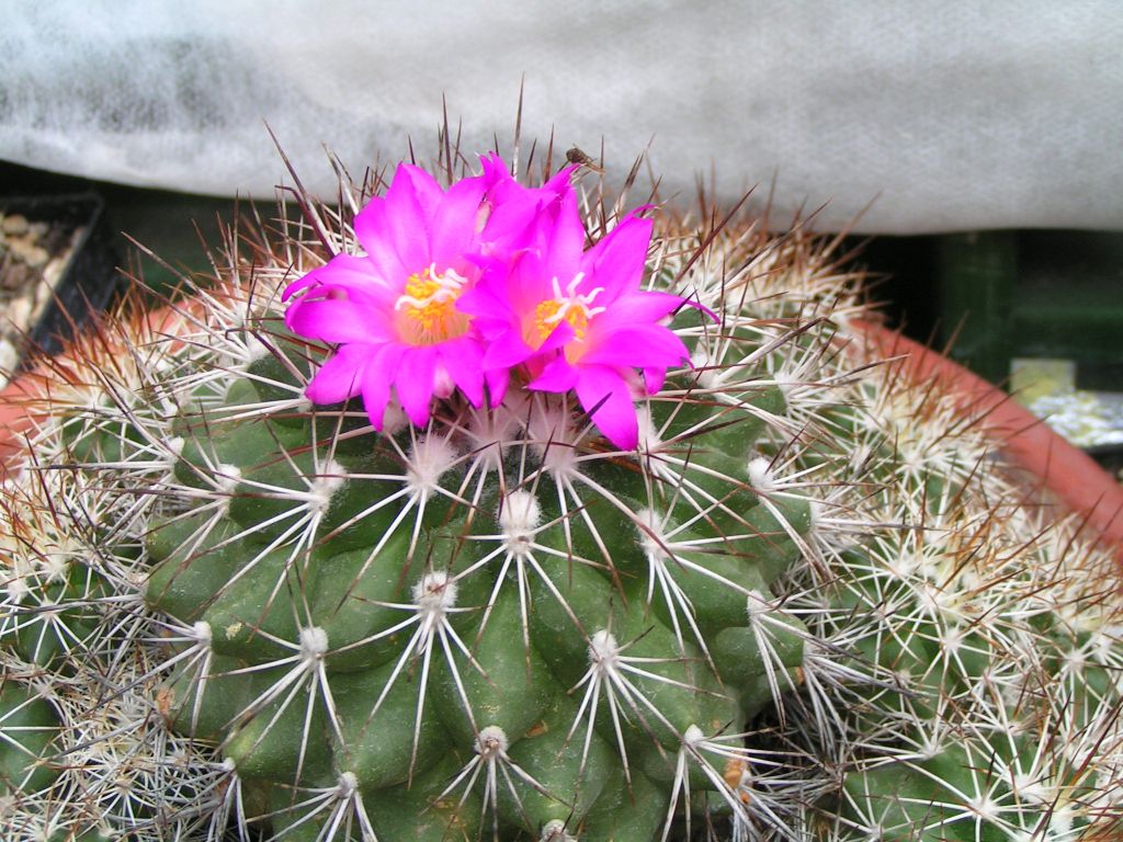
<svg viewBox="0 0 1123 842">
<path fill-rule="evenodd" d="M 176 335 L 191 321 L 186 310 L 159 310 L 147 318 L 145 329 Z M 965 412 L 979 418 L 986 433 L 1028 479 L 1071 511 L 1086 516 L 1089 528 L 1119 548 L 1123 562 L 1123 486 L 1089 456 L 1069 445 L 1043 421 L 1030 414 L 998 387 L 977 377 L 947 357 L 898 332 L 861 320 L 850 326 L 867 342 L 870 357 L 900 357 L 900 365 L 916 382 L 939 378 L 960 396 Z M 40 365 L 0 392 L 0 479 L 12 467 L 31 427 L 37 397 L 49 392 L 52 368 L 65 366 L 65 355 Z"/>
</svg>

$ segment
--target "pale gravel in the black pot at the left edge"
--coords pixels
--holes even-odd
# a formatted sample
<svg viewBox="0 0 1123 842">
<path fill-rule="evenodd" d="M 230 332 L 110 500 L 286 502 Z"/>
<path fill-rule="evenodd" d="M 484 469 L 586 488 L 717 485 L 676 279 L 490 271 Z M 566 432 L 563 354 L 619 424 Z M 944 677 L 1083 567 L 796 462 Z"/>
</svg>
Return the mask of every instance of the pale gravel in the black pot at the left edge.
<svg viewBox="0 0 1123 842">
<path fill-rule="evenodd" d="M 0 209 L 0 385 L 19 364 L 83 231 Z"/>
</svg>

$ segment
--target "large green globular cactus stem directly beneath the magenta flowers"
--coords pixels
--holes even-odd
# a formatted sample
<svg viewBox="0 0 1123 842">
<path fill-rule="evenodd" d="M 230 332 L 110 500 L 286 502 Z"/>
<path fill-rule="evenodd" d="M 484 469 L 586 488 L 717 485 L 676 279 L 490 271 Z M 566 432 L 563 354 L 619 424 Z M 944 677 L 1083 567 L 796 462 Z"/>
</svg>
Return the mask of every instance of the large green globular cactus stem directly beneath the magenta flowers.
<svg viewBox="0 0 1123 842">
<path fill-rule="evenodd" d="M 472 794 L 429 775 L 455 758 L 504 767 L 491 784 L 504 835 L 615 822 L 637 787 L 661 817 L 684 785 L 684 735 L 729 732 L 770 702 L 770 674 L 791 680 L 806 630 L 769 607 L 769 582 L 798 557 L 785 530 L 810 521 L 800 503 L 756 512 L 749 410 L 700 401 L 673 419 L 652 400 L 652 420 L 691 431 L 697 454 L 658 473 L 582 446 L 565 399 L 521 391 L 490 410 L 511 419 L 493 441 L 468 406 L 456 425 L 386 437 L 355 405 L 262 413 L 255 383 L 298 390 L 309 354 L 272 342 L 276 357 L 173 421 L 173 476 L 198 492 L 147 534 L 147 603 L 213 657 L 175 685 L 176 724 L 222 742 L 244 789 L 347 776 L 385 803 L 431 779 L 412 811 Z M 782 411 L 776 390 L 759 397 Z M 723 761 L 697 762 L 721 779 Z M 410 838 L 448 832 L 424 811 L 412 821 Z"/>
</svg>

